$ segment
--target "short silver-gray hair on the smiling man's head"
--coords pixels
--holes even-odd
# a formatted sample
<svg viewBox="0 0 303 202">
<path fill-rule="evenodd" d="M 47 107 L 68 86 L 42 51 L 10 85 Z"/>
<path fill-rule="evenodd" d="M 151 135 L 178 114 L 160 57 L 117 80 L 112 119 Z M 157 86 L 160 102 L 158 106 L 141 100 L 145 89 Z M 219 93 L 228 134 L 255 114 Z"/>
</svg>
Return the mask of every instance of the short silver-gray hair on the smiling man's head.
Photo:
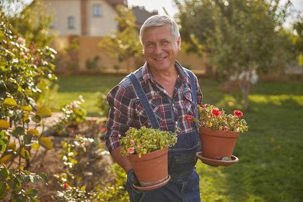
<svg viewBox="0 0 303 202">
<path fill-rule="evenodd" d="M 142 43 L 142 37 L 143 37 L 143 32 L 144 30 L 151 28 L 151 27 L 157 27 L 157 26 L 162 26 L 162 25 L 170 25 L 171 28 L 171 33 L 175 36 L 175 40 L 178 39 L 180 36 L 179 28 L 177 23 L 175 22 L 174 19 L 172 19 L 169 16 L 161 16 L 161 15 L 155 15 L 149 17 L 142 25 L 140 29 L 140 42 Z"/>
</svg>

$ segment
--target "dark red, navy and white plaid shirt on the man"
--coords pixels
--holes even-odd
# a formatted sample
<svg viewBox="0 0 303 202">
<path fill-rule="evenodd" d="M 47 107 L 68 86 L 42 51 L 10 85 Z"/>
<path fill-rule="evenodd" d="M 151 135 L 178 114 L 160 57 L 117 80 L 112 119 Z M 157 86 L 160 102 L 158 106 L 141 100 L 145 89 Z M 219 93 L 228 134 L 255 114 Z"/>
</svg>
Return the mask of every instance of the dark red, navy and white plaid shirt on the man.
<svg viewBox="0 0 303 202">
<path fill-rule="evenodd" d="M 162 130 L 178 133 L 187 133 L 195 129 L 195 124 L 186 120 L 186 114 L 195 116 L 196 106 L 192 105 L 190 80 L 185 69 L 176 61 L 175 66 L 179 76 L 174 89 L 174 98 L 171 100 L 165 89 L 152 79 L 148 64 L 136 70 L 142 88 L 152 106 Z M 202 103 L 202 93 L 195 76 L 197 104 Z M 106 126 L 106 146 L 111 152 L 119 147 L 118 135 L 125 135 L 129 127 L 151 127 L 151 123 L 129 78 L 124 78 L 107 94 L 110 106 Z"/>
</svg>

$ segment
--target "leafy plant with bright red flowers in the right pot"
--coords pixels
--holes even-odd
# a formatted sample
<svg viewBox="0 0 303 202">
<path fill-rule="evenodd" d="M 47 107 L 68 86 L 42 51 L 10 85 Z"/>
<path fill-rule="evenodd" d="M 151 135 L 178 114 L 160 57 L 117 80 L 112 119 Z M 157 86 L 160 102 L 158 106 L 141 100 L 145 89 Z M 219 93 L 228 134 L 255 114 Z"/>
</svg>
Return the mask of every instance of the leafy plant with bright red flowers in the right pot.
<svg viewBox="0 0 303 202">
<path fill-rule="evenodd" d="M 186 115 L 187 121 L 198 122 L 200 127 L 212 130 L 240 131 L 242 133 L 248 130 L 246 121 L 240 119 L 243 113 L 239 110 L 234 110 L 234 114 L 225 114 L 223 109 L 220 111 L 220 109 L 210 104 L 197 105 L 197 110 L 200 118 Z"/>
</svg>

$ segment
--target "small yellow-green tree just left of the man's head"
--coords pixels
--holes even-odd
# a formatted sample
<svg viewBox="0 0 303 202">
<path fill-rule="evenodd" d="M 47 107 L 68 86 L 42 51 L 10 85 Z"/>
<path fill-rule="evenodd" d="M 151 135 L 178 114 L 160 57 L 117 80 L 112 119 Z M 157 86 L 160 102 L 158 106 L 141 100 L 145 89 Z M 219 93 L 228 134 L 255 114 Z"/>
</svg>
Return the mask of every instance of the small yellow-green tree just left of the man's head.
<svg viewBox="0 0 303 202">
<path fill-rule="evenodd" d="M 136 18 L 133 11 L 117 5 L 118 16 L 115 17 L 119 30 L 109 31 L 99 43 L 108 55 L 117 58 L 120 62 L 127 62 L 127 71 L 130 71 L 130 59 L 142 55 L 142 46 L 135 28 Z"/>
</svg>

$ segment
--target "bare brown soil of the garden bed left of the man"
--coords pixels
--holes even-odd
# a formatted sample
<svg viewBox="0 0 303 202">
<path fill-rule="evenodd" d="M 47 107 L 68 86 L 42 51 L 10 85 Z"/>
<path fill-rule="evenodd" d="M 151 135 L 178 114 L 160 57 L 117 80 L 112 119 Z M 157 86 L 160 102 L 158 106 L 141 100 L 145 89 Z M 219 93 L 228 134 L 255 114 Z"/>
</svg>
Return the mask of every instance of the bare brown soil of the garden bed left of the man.
<svg viewBox="0 0 303 202">
<path fill-rule="evenodd" d="M 45 124 L 47 130 L 43 132 L 42 136 L 47 136 L 53 143 L 53 148 L 51 150 L 46 151 L 44 148 L 40 148 L 38 150 L 30 151 L 30 165 L 26 168 L 26 170 L 32 173 L 45 173 L 48 177 L 47 185 L 40 180 L 37 184 L 33 183 L 23 183 L 22 187 L 24 190 L 29 188 L 35 188 L 38 191 L 37 199 L 39 202 L 60 202 L 58 199 L 58 191 L 64 190 L 63 187 L 60 186 L 58 180 L 55 175 L 60 173 L 67 173 L 68 167 L 63 164 L 63 160 L 59 157 L 61 155 L 63 147 L 62 141 L 69 141 L 71 143 L 76 140 L 75 135 L 58 135 L 53 129 L 51 129 L 51 125 L 53 125 L 54 120 L 58 119 L 58 115 L 52 116 L 48 118 Z M 93 126 L 98 125 L 98 123 Z M 87 134 L 92 130 L 92 125 L 89 124 L 81 124 L 77 130 L 74 131 L 73 134 Z M 94 129 L 95 130 L 95 129 Z M 83 177 L 83 184 L 86 186 L 86 190 L 91 187 L 96 187 L 100 185 L 101 187 L 106 185 L 109 182 L 114 181 L 114 177 L 110 175 L 109 171 L 107 171 L 106 167 L 113 164 L 113 160 L 111 155 L 106 151 L 105 141 L 101 139 L 101 145 L 105 149 L 103 155 L 96 155 L 95 151 L 99 149 L 98 145 L 94 144 L 93 147 L 88 148 L 88 152 L 91 152 L 91 155 L 94 155 L 90 161 L 86 161 L 83 159 L 82 162 L 84 164 L 80 167 L 83 169 L 85 167 L 85 171 L 87 173 L 93 173 Z M 11 167 L 17 164 L 14 162 Z M 84 169 L 83 169 L 84 170 Z M 0 202 L 11 202 L 12 196 L 10 192 L 7 192 L 5 198 L 0 199 Z"/>
</svg>

